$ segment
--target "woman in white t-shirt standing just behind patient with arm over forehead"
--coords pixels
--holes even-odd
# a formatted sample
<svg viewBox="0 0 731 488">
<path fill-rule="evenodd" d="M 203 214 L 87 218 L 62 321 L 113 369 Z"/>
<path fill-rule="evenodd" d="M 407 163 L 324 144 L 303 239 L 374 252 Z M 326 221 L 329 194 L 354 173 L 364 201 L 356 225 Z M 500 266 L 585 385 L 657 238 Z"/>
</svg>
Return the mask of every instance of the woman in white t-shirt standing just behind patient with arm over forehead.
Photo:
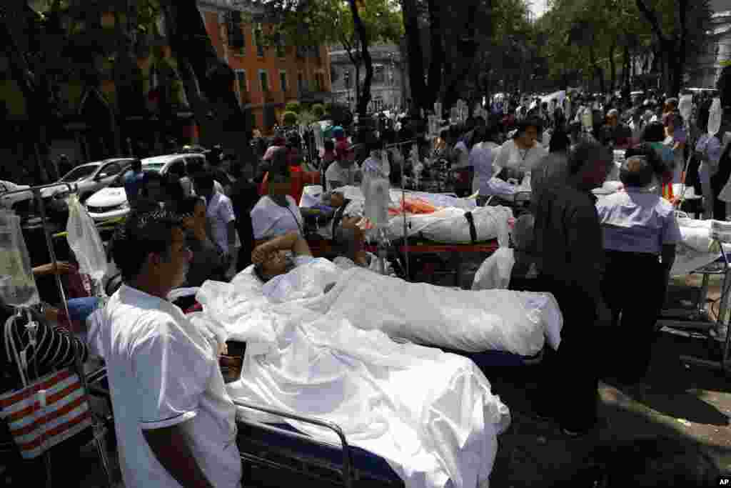
<svg viewBox="0 0 731 488">
<path fill-rule="evenodd" d="M 289 166 L 273 164 L 269 170 L 269 194 L 262 196 L 251 209 L 254 241 L 266 241 L 291 231 L 304 235 L 302 214 L 295 199 L 288 195 L 291 187 Z"/>
</svg>

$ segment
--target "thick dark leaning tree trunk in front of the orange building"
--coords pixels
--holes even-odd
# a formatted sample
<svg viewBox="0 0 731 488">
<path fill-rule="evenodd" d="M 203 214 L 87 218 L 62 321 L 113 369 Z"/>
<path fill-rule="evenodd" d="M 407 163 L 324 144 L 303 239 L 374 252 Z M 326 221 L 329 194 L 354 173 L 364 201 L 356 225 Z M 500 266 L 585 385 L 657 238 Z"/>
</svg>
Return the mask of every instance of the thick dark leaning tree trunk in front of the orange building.
<svg viewBox="0 0 731 488">
<path fill-rule="evenodd" d="M 164 0 L 170 47 L 187 65 L 185 86 L 201 132 L 201 140 L 219 143 L 240 162 L 251 162 L 249 124 L 234 89 L 233 70 L 219 59 L 205 30 L 195 0 Z M 200 91 L 198 90 L 200 88 Z M 195 102 L 194 102 L 195 101 Z"/>
</svg>

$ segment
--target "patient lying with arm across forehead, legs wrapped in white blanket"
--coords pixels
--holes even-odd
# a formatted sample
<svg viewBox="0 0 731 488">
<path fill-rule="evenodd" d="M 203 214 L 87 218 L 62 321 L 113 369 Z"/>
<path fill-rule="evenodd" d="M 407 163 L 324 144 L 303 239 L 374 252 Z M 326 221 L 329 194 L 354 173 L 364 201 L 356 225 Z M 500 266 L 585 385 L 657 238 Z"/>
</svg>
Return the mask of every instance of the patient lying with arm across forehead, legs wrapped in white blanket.
<svg viewBox="0 0 731 488">
<path fill-rule="evenodd" d="M 534 356 L 545 340 L 553 348 L 560 342 L 561 312 L 548 293 L 410 283 L 312 258 L 306 241 L 296 234 L 270 243 L 252 253 L 256 278 L 248 272 L 258 282 L 257 293 L 272 305 L 296 302 L 333 320 L 345 318 L 358 329 L 473 353 L 501 350 Z M 293 256 L 284 255 L 287 249 Z M 243 285 L 246 273 L 232 284 Z"/>
</svg>

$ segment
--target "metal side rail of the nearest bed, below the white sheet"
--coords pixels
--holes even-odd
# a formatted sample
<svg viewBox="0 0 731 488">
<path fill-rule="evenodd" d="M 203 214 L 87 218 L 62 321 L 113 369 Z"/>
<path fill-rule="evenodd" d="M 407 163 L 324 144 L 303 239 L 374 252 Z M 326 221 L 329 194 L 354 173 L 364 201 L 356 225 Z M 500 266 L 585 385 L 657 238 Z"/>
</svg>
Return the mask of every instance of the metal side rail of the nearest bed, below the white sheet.
<svg viewBox="0 0 731 488">
<path fill-rule="evenodd" d="M 317 427 L 323 427 L 332 432 L 335 432 L 335 434 L 340 439 L 341 448 L 343 451 L 343 465 L 342 465 L 342 469 L 339 470 L 341 473 L 341 476 L 343 478 L 343 484 L 346 488 L 353 487 L 353 484 L 355 482 L 355 473 L 354 473 L 354 469 L 353 469 L 352 448 L 348 444 L 348 440 L 345 438 L 345 434 L 343 433 L 343 430 L 337 424 L 333 424 L 332 422 L 328 422 L 328 421 L 323 421 L 318 418 L 300 416 L 295 413 L 289 413 L 289 412 L 284 412 L 281 410 L 276 410 L 274 408 L 264 407 L 262 405 L 255 405 L 255 404 L 249 403 L 249 402 L 241 402 L 240 400 L 234 400 L 233 402 L 234 402 L 234 405 L 236 405 L 237 407 L 248 408 L 249 410 L 268 413 L 273 416 L 279 416 L 282 418 L 288 418 L 290 420 L 300 421 L 305 424 L 311 424 L 311 425 L 314 425 Z M 280 429 L 279 427 L 274 427 L 270 424 L 265 424 L 264 422 L 251 421 L 249 419 L 245 419 L 245 422 L 247 424 L 254 425 L 260 429 L 264 429 L 268 432 L 274 432 L 278 435 L 286 435 L 289 438 L 297 438 L 299 440 L 304 440 L 308 443 L 317 444 L 319 446 L 325 446 L 325 447 L 336 446 L 333 443 L 329 443 L 329 442 L 323 441 L 323 440 L 317 440 L 315 438 L 312 438 L 311 436 L 308 436 L 305 434 L 300 434 L 299 432 L 290 432 L 285 429 Z M 282 467 L 281 465 L 279 465 L 275 462 L 268 462 L 265 459 L 260 459 L 260 458 L 256 458 L 256 457 L 253 457 L 253 459 L 252 459 L 252 457 L 247 454 L 241 454 L 241 457 L 243 459 L 247 459 L 249 461 L 265 462 L 266 464 L 270 465 L 270 467 L 272 467 L 272 468 L 281 468 Z"/>
</svg>

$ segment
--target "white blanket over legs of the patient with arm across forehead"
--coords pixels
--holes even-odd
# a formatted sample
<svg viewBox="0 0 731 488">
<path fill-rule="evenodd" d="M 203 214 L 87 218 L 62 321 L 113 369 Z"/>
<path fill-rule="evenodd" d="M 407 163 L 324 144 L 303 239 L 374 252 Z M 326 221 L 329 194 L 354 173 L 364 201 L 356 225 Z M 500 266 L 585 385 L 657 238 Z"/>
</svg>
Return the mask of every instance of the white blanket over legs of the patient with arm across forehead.
<svg viewBox="0 0 731 488">
<path fill-rule="evenodd" d="M 533 356 L 546 337 L 554 348 L 560 342 L 561 312 L 550 293 L 453 290 L 351 269 L 304 306 L 358 329 L 452 350 Z"/>
</svg>

